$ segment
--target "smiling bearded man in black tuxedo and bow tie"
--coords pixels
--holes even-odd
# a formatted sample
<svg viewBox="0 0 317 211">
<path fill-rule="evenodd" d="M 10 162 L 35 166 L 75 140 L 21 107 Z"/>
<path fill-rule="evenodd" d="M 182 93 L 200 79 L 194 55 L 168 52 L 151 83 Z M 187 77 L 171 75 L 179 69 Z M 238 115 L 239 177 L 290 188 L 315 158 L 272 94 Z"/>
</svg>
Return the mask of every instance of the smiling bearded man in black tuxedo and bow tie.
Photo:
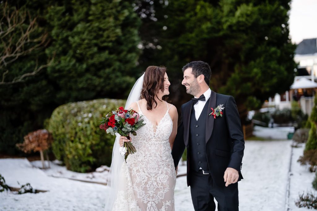
<svg viewBox="0 0 317 211">
<path fill-rule="evenodd" d="M 244 139 L 236 102 L 210 90 L 207 63 L 192 61 L 183 72 L 182 84 L 195 98 L 181 107 L 172 149 L 175 167 L 187 147 L 187 185 L 196 211 L 215 210 L 214 198 L 218 211 L 239 210 Z"/>
</svg>

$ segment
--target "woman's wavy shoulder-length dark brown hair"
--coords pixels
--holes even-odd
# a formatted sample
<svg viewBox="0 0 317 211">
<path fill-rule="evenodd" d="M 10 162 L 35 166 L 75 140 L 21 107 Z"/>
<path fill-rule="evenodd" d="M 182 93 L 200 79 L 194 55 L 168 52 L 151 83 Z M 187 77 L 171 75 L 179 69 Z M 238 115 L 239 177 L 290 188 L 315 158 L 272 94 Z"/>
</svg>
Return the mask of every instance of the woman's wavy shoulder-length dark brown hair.
<svg viewBox="0 0 317 211">
<path fill-rule="evenodd" d="M 146 100 L 147 110 L 152 110 L 153 103 L 155 103 L 154 107 L 158 105 L 155 97 L 157 97 L 159 91 L 164 92 L 165 72 L 166 68 L 163 66 L 149 66 L 146 68 L 140 99 Z"/>
</svg>

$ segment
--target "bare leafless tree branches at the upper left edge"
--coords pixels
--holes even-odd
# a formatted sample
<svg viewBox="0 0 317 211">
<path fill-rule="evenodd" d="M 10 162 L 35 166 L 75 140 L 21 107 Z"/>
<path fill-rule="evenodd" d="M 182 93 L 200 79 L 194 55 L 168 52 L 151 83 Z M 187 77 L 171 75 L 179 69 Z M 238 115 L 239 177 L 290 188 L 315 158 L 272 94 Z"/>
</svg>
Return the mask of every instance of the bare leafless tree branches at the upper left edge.
<svg viewBox="0 0 317 211">
<path fill-rule="evenodd" d="M 2 17 L 0 16 L 0 72 L 2 72 L 0 85 L 23 82 L 25 78 L 35 75 L 43 68 L 51 65 L 54 56 L 46 65 L 38 66 L 38 61 L 36 60 L 36 66 L 32 72 L 18 75 L 9 81 L 5 80 L 6 75 L 9 73 L 6 68 L 7 65 L 21 56 L 46 47 L 49 43 L 48 34 L 44 33 L 39 37 L 30 38 L 32 33 L 38 28 L 37 17 L 31 18 L 26 10 L 17 10 L 15 7 L 9 7 L 6 1 L 0 2 L 0 8 L 2 10 Z M 28 21 L 27 18 L 29 19 Z M 16 39 L 17 34 L 19 34 L 18 39 Z"/>
</svg>

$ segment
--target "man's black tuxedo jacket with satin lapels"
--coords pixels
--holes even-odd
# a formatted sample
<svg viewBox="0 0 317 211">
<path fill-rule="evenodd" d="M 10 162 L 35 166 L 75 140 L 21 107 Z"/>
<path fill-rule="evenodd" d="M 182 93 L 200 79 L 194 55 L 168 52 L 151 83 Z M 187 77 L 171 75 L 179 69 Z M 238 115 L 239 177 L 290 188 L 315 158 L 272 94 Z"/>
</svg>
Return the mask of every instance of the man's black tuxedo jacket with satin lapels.
<svg viewBox="0 0 317 211">
<path fill-rule="evenodd" d="M 213 115 L 207 116 L 205 133 L 205 150 L 208 166 L 213 184 L 224 187 L 223 175 L 227 167 L 234 168 L 241 175 L 242 157 L 244 150 L 244 138 L 241 127 L 240 116 L 236 102 L 232 96 L 215 93 L 211 90 L 208 112 L 200 115 L 209 115 L 219 104 L 223 105 L 223 116 L 214 118 Z M 177 129 L 177 135 L 173 144 L 172 157 L 175 168 L 183 155 L 185 147 L 190 149 L 189 144 L 189 125 L 193 103 L 189 101 L 181 107 L 181 120 Z M 190 153 L 187 152 L 187 185 L 190 186 Z"/>
</svg>

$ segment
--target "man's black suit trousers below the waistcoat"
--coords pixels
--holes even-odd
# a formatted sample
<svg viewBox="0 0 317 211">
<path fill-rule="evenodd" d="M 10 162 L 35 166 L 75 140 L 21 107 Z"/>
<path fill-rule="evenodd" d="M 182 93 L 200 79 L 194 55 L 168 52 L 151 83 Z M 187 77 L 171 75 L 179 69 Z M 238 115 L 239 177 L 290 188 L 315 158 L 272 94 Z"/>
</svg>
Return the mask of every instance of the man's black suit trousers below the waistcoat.
<svg viewBox="0 0 317 211">
<path fill-rule="evenodd" d="M 218 211 L 239 211 L 238 182 L 228 187 L 213 186 L 210 174 L 190 172 L 191 200 L 195 211 L 215 211 L 218 202 Z"/>
</svg>

